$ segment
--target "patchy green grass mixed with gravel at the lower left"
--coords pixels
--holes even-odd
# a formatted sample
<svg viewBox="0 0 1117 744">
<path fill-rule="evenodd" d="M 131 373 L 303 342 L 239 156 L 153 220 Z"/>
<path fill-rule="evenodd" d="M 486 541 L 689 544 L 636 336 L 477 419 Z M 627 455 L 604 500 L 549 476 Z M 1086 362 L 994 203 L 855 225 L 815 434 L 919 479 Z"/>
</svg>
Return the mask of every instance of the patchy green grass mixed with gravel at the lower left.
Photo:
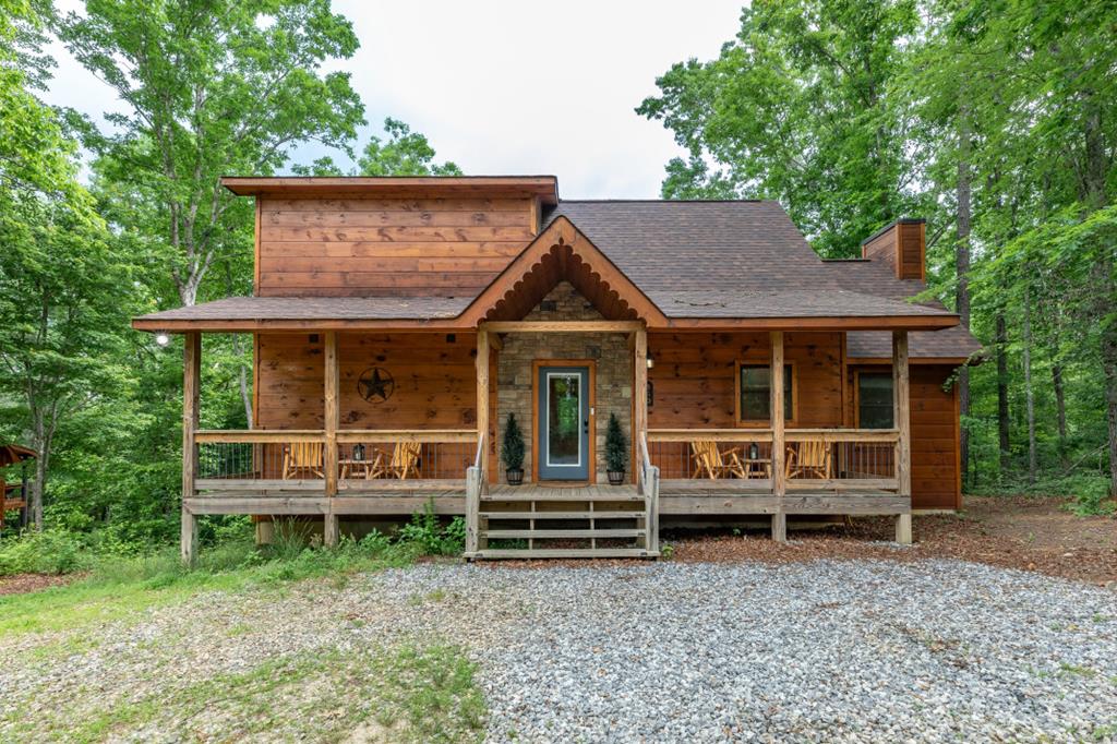
<svg viewBox="0 0 1117 744">
<path fill-rule="evenodd" d="M 362 633 L 330 610 L 422 552 L 232 544 L 192 571 L 168 552 L 0 597 L 0 741 L 478 741 L 485 703 L 460 647 Z"/>
</svg>

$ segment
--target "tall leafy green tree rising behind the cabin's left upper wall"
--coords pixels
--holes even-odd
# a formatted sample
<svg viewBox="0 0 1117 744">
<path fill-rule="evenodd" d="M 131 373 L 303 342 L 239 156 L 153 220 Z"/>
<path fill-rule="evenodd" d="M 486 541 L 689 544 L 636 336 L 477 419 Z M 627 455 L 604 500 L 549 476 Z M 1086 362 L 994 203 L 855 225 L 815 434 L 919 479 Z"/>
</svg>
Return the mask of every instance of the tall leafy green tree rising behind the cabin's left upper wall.
<svg viewBox="0 0 1117 744">
<path fill-rule="evenodd" d="M 58 34 L 128 106 L 85 141 L 183 305 L 245 245 L 228 236 L 247 208 L 220 177 L 271 173 L 307 141 L 345 147 L 364 123 L 349 75 L 322 73 L 359 46 L 328 0 L 88 0 Z"/>
</svg>

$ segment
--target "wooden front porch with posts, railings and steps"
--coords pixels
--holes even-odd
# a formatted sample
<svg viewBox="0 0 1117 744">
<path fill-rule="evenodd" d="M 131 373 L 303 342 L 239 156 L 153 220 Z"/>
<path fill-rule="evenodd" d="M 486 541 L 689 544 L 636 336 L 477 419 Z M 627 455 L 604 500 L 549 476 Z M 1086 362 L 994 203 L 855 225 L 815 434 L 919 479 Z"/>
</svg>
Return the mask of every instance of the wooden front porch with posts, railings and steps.
<svg viewBox="0 0 1117 744">
<path fill-rule="evenodd" d="M 508 334 L 622 333 L 630 338 L 631 479 L 601 483 L 500 480 L 490 379 Z M 335 544 L 342 517 L 408 516 L 428 506 L 465 516 L 468 557 L 658 555 L 659 519 L 761 515 L 786 540 L 798 515 L 892 515 L 910 542 L 907 334 L 894 334 L 895 429 L 785 428 L 783 375 L 772 374 L 767 428 L 650 428 L 647 332 L 637 322 L 481 324 L 476 340 L 476 429 L 342 428 L 343 360 L 337 332 L 324 335 L 322 429 L 221 431 L 197 428 L 197 393 L 184 419 L 183 556 L 207 514 L 321 517 Z M 346 334 L 347 335 L 347 334 Z M 770 369 L 784 366 L 782 331 L 767 334 Z M 431 334 L 430 342 L 438 336 Z M 187 390 L 197 391 L 201 342 L 187 335 Z M 809 398 L 809 391 L 800 395 Z M 806 457 L 810 450 L 812 455 Z M 402 455 L 401 455 L 402 454 Z M 720 458 L 712 464 L 709 457 Z M 497 543 L 497 541 L 502 541 Z M 497 545 L 497 546 L 490 546 Z M 560 546 L 552 546 L 560 545 Z"/>
</svg>

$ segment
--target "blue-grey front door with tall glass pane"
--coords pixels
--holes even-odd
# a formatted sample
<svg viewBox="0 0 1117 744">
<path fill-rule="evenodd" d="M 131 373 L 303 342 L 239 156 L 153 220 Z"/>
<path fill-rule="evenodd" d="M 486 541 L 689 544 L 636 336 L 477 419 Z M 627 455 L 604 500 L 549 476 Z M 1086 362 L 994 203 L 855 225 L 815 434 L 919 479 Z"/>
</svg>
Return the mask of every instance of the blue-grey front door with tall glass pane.
<svg viewBox="0 0 1117 744">
<path fill-rule="evenodd" d="M 541 480 L 590 479 L 590 368 L 541 366 Z"/>
</svg>

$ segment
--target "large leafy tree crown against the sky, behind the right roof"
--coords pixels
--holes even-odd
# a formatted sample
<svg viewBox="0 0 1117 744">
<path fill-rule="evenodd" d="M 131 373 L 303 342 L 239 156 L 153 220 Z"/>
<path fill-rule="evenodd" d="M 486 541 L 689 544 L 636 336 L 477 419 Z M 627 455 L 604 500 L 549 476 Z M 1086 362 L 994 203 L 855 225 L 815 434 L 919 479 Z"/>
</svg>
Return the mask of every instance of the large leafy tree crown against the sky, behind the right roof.
<svg viewBox="0 0 1117 744">
<path fill-rule="evenodd" d="M 677 64 L 637 112 L 675 133 L 663 197 L 779 199 L 829 256 L 909 210 L 907 122 L 886 90 L 918 22 L 908 0 L 760 0 L 708 63 Z"/>
</svg>

